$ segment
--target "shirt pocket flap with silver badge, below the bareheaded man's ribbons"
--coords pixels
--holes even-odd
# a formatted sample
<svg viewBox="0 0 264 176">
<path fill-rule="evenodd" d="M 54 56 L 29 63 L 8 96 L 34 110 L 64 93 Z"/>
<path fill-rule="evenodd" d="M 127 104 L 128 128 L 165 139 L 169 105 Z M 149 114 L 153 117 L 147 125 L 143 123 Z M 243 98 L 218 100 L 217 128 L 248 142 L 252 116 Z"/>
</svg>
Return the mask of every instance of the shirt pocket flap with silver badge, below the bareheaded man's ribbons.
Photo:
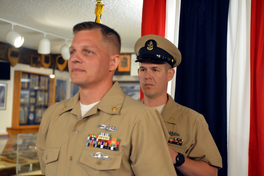
<svg viewBox="0 0 264 176">
<path fill-rule="evenodd" d="M 105 156 L 109 156 L 110 160 L 101 160 L 95 157 L 91 157 L 90 154 L 96 154 L 97 152 L 102 152 Z M 83 149 L 80 162 L 96 170 L 114 170 L 120 169 L 122 160 L 122 154 L 116 151 L 111 151 L 107 149 L 99 149 L 94 147 L 86 147 Z"/>
</svg>

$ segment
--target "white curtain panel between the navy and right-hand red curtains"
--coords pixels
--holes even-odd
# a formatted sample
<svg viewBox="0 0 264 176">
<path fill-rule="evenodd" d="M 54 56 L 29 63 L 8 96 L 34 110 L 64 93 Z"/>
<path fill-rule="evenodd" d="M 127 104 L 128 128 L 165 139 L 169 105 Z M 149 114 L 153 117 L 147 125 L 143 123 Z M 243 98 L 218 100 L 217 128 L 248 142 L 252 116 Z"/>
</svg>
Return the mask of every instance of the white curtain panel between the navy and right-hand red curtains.
<svg viewBox="0 0 264 176">
<path fill-rule="evenodd" d="M 230 0 L 227 32 L 228 176 L 248 175 L 251 1 Z"/>
</svg>

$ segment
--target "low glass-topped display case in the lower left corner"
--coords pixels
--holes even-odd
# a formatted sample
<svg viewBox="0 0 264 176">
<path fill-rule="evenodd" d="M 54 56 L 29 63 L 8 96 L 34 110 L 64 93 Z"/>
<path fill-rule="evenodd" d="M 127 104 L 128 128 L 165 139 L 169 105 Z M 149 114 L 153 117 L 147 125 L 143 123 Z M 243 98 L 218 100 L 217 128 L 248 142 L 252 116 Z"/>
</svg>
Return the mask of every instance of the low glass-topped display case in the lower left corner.
<svg viewBox="0 0 264 176">
<path fill-rule="evenodd" d="M 40 170 L 35 148 L 37 133 L 18 134 L 0 139 L 0 175 L 15 175 Z"/>
</svg>

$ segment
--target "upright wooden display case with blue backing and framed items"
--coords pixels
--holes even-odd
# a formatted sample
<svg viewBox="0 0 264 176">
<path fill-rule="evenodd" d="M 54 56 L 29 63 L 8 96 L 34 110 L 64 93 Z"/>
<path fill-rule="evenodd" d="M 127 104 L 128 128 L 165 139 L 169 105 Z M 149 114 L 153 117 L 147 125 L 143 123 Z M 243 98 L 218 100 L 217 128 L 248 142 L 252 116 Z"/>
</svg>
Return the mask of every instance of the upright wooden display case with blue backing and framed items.
<svg viewBox="0 0 264 176">
<path fill-rule="evenodd" d="M 38 132 L 44 111 L 55 103 L 55 89 L 55 78 L 49 75 L 15 71 L 10 137 Z"/>
</svg>

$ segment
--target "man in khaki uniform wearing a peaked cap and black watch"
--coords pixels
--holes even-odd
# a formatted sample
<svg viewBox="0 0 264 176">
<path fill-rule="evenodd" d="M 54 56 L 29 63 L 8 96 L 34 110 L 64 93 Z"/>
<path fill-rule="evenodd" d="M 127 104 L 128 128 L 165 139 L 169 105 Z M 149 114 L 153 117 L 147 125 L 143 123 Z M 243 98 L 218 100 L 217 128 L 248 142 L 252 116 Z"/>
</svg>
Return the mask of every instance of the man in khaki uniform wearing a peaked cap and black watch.
<svg viewBox="0 0 264 176">
<path fill-rule="evenodd" d="M 145 35 L 134 47 L 139 62 L 142 102 L 156 108 L 167 127 L 165 134 L 177 175 L 217 175 L 222 158 L 204 117 L 176 103 L 167 94 L 168 82 L 181 62 L 177 47 L 164 37 Z"/>
</svg>

